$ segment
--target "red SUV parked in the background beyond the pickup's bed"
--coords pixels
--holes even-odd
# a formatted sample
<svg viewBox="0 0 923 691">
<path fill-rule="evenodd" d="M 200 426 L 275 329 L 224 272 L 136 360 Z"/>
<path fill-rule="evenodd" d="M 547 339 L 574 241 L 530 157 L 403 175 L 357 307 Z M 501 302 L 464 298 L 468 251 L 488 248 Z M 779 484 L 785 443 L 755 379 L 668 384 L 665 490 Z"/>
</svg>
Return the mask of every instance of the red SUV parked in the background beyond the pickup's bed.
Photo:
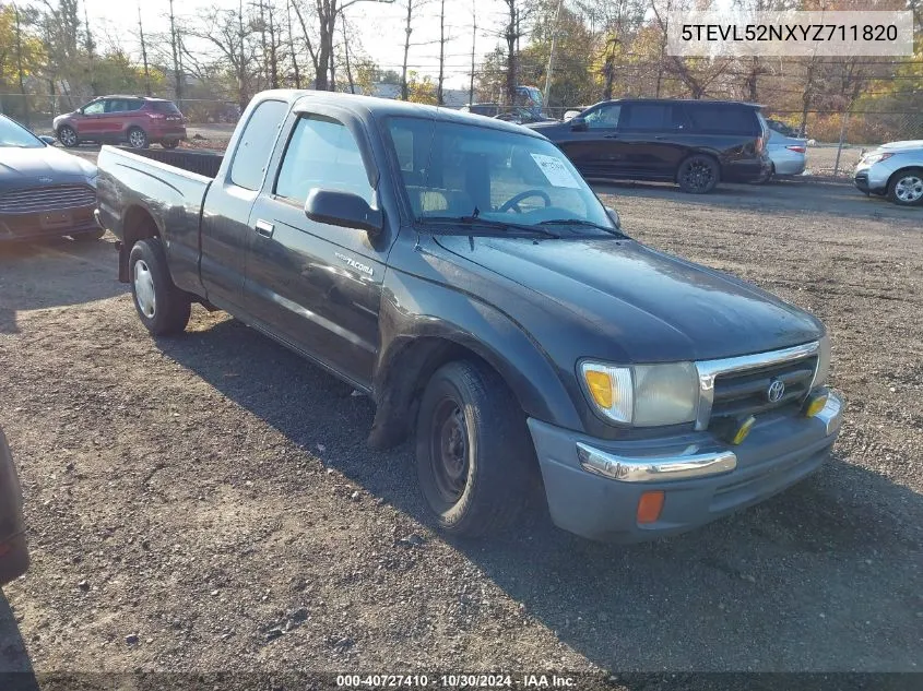
<svg viewBox="0 0 923 691">
<path fill-rule="evenodd" d="M 132 148 L 158 143 L 175 148 L 186 139 L 186 119 L 170 100 L 145 96 L 102 96 L 55 118 L 58 141 L 68 148 L 81 142 L 128 142 Z"/>
</svg>

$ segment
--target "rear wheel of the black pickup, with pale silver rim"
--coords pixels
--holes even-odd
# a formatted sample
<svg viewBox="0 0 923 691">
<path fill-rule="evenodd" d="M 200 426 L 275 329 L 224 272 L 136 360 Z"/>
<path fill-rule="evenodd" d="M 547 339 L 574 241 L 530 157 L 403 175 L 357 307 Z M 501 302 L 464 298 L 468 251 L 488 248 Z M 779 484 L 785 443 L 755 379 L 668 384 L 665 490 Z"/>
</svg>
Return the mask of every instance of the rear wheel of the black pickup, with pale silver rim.
<svg viewBox="0 0 923 691">
<path fill-rule="evenodd" d="M 128 258 L 128 270 L 134 309 L 151 335 L 168 336 L 184 331 L 192 305 L 170 278 L 161 239 L 135 242 Z"/>
</svg>

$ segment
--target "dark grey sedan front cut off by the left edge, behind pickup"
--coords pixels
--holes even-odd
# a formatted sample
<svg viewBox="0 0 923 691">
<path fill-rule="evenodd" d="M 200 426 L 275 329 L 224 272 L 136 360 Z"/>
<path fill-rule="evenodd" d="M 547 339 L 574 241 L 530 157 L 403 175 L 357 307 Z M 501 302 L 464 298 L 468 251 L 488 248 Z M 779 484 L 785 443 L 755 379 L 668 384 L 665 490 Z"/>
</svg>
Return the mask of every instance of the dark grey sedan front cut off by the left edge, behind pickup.
<svg viewBox="0 0 923 691">
<path fill-rule="evenodd" d="M 93 219 L 96 166 L 0 115 L 0 242 L 103 237 Z"/>
</svg>

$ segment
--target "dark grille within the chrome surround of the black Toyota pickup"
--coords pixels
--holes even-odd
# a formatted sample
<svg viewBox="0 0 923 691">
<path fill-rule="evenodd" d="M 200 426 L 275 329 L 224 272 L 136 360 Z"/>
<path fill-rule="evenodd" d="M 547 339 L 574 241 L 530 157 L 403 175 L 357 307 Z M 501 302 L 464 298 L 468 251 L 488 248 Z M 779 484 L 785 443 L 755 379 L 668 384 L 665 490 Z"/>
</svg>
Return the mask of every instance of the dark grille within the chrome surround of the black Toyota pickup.
<svg viewBox="0 0 923 691">
<path fill-rule="evenodd" d="M 801 402 L 810 389 L 816 367 L 817 356 L 810 356 L 792 362 L 718 374 L 711 417 L 756 415 Z M 778 401 L 770 401 L 768 392 L 774 380 L 785 385 L 785 392 Z"/>
</svg>

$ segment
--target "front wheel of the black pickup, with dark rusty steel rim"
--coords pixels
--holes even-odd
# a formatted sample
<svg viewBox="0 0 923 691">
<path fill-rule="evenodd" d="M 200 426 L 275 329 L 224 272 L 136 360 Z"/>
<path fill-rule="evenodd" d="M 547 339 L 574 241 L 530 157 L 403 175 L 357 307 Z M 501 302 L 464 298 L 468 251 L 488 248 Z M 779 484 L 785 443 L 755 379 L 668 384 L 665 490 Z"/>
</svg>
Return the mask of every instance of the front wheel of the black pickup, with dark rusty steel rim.
<svg viewBox="0 0 923 691">
<path fill-rule="evenodd" d="M 417 415 L 421 491 L 439 527 L 480 537 L 511 524 L 532 482 L 525 416 L 488 367 L 458 360 L 426 385 Z"/>
</svg>

